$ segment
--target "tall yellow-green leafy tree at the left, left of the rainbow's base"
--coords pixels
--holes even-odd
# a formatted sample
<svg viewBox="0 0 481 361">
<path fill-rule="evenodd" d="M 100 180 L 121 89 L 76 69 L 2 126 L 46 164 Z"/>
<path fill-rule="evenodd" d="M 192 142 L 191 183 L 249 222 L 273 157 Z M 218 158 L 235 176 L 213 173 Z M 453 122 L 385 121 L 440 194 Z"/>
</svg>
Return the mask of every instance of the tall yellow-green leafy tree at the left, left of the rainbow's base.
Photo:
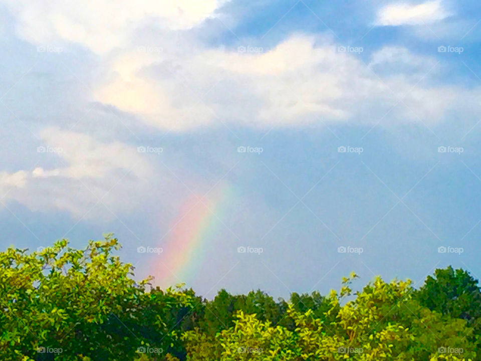
<svg viewBox="0 0 481 361">
<path fill-rule="evenodd" d="M 165 357 L 183 349 L 180 314 L 192 308 L 192 291 L 146 292 L 133 267 L 112 253 L 120 247 L 107 235 L 84 250 L 61 240 L 28 254 L 0 253 L 0 358 L 2 360 L 125 360 L 153 352 Z"/>
</svg>

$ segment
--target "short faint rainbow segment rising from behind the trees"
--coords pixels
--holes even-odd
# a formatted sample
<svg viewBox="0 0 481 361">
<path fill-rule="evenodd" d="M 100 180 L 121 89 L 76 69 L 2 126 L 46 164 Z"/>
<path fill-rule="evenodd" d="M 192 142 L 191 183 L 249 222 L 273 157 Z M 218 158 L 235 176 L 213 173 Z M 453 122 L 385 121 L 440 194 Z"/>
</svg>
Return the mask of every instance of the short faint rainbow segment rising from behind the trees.
<svg viewBox="0 0 481 361">
<path fill-rule="evenodd" d="M 184 202 L 168 233 L 159 240 L 162 253 L 154 258 L 153 267 L 156 284 L 188 282 L 197 273 L 209 252 L 213 231 L 221 224 L 217 215 L 229 194 L 230 188 L 224 186 L 205 197 L 192 195 Z"/>
</svg>

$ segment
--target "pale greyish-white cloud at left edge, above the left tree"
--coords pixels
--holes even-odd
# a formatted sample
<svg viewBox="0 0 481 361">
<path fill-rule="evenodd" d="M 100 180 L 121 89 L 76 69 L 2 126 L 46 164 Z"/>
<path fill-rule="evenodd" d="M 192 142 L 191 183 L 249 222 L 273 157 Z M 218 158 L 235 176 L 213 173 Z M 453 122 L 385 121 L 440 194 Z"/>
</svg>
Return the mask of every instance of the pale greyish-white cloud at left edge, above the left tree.
<svg viewBox="0 0 481 361">
<path fill-rule="evenodd" d="M 62 210 L 75 217 L 86 215 L 97 203 L 117 212 L 131 211 L 145 195 L 152 169 L 136 147 L 118 141 L 101 143 L 92 136 L 48 128 L 40 133 L 56 153 L 36 153 L 33 170 L 0 173 L 0 190 L 6 201 L 16 201 L 34 211 Z M 158 179 L 158 178 L 157 178 Z M 100 200 L 100 201 L 99 201 Z M 113 218 L 102 209 L 87 218 Z"/>
</svg>

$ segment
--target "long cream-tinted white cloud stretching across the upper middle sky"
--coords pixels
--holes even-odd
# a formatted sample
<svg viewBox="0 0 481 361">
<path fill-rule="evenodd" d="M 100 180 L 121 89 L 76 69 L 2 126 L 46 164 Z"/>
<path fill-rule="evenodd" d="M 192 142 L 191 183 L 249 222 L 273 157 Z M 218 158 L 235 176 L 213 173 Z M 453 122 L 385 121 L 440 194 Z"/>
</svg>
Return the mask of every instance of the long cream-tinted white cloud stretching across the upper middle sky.
<svg viewBox="0 0 481 361">
<path fill-rule="evenodd" d="M 261 125 L 296 123 L 311 113 L 344 118 L 346 112 L 331 101 L 342 96 L 340 84 L 347 81 L 340 68 L 353 70 L 356 61 L 335 53 L 331 45 L 315 48 L 313 42 L 313 38 L 294 36 L 257 55 L 219 49 L 181 57 L 123 54 L 111 66 L 115 80 L 101 86 L 96 99 L 170 130 L 211 124 L 217 118 Z M 170 77 L 142 72 L 168 64 L 175 64 Z M 344 80 L 336 79 L 332 68 L 343 72 Z M 219 80 L 229 83 L 223 94 L 219 94 Z M 248 115 L 251 112 L 254 119 Z"/>
</svg>

